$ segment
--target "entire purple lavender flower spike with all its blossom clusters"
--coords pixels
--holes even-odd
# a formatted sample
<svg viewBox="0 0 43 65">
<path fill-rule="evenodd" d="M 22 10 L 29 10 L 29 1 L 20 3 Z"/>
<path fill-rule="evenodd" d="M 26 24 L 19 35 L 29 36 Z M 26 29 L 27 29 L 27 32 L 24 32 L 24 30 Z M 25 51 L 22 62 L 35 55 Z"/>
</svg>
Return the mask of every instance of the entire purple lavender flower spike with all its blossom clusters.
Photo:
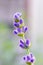
<svg viewBox="0 0 43 65">
<path fill-rule="evenodd" d="M 14 34 L 16 34 L 17 36 L 22 37 L 22 39 L 20 39 L 20 44 L 19 46 L 22 49 L 28 49 L 30 48 L 30 40 L 29 39 L 25 39 L 25 32 L 27 31 L 27 26 L 24 25 L 24 21 L 21 18 L 22 14 L 17 12 L 14 14 L 13 18 L 14 18 Z M 28 51 L 27 51 L 28 52 Z M 35 57 L 29 53 L 27 56 L 24 56 L 23 59 L 25 60 L 27 65 L 32 65 L 35 61 Z"/>
</svg>

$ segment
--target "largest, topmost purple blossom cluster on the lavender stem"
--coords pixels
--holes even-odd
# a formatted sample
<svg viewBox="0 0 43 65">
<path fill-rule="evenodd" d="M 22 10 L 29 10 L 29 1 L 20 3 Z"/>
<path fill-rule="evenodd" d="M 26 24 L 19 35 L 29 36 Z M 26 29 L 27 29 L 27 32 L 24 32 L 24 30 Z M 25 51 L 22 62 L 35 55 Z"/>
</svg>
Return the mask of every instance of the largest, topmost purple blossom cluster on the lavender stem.
<svg viewBox="0 0 43 65">
<path fill-rule="evenodd" d="M 21 18 L 21 13 L 15 13 L 14 14 L 14 26 L 15 26 L 15 30 L 14 30 L 14 34 L 17 34 L 18 36 L 23 37 L 25 32 L 27 31 L 27 27 L 24 26 L 24 21 Z"/>
</svg>

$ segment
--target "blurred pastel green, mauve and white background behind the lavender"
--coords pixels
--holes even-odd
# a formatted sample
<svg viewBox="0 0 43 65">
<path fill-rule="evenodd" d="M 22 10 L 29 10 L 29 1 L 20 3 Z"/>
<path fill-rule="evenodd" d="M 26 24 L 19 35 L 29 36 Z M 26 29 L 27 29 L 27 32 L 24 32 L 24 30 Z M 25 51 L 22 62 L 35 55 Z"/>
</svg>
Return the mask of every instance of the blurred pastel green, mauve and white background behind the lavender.
<svg viewBox="0 0 43 65">
<path fill-rule="evenodd" d="M 13 14 L 21 12 L 28 26 L 26 38 L 36 57 L 34 65 L 43 65 L 43 0 L 0 0 L 0 65 L 26 65 L 26 51 L 19 47 L 19 37 L 13 34 Z M 27 34 L 28 33 L 28 34 Z"/>
</svg>

